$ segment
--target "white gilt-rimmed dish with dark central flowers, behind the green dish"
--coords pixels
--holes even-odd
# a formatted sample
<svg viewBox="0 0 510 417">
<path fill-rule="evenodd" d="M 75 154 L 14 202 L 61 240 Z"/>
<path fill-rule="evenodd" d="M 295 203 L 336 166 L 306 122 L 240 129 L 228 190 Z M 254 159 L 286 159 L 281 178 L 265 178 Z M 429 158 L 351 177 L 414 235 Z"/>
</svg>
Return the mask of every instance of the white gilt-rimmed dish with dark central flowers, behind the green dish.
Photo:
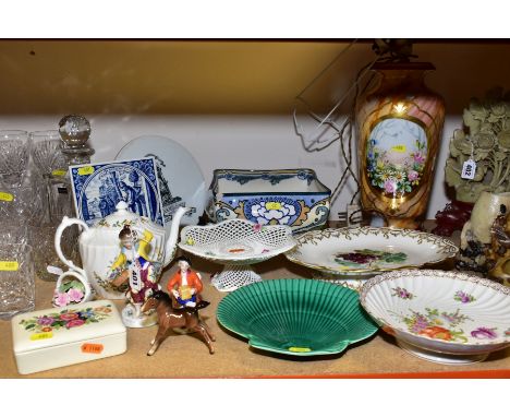
<svg viewBox="0 0 510 417">
<path fill-rule="evenodd" d="M 459 251 L 442 237 L 388 227 L 316 230 L 298 236 L 296 240 L 294 250 L 286 254 L 290 261 L 353 278 L 438 263 Z"/>
</svg>

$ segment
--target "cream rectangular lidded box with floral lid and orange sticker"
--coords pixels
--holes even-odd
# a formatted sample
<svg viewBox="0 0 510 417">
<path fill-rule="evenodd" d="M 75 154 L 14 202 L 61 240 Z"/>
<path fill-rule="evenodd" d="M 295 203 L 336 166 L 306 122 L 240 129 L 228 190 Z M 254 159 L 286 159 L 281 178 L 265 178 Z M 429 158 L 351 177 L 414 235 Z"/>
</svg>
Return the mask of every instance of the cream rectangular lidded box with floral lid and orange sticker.
<svg viewBox="0 0 510 417">
<path fill-rule="evenodd" d="M 22 374 L 126 350 L 126 330 L 110 300 L 17 314 L 11 325 L 17 371 Z"/>
</svg>

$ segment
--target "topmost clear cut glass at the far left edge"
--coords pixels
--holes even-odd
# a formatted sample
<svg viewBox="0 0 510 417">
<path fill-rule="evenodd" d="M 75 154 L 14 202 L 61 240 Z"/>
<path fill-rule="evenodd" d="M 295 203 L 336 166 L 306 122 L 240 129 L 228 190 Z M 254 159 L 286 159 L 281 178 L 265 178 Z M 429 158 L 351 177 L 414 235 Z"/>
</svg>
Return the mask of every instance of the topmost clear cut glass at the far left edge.
<svg viewBox="0 0 510 417">
<path fill-rule="evenodd" d="M 31 139 L 24 130 L 0 130 L 0 182 L 20 186 L 31 155 Z"/>
</svg>

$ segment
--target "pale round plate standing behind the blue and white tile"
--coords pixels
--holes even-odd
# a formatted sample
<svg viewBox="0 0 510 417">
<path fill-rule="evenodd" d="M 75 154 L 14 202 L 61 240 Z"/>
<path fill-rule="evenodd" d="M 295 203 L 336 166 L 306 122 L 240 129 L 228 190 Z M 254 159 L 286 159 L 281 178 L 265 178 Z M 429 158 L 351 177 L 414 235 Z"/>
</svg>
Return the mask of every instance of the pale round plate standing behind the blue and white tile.
<svg viewBox="0 0 510 417">
<path fill-rule="evenodd" d="M 117 154 L 116 159 L 151 156 L 156 160 L 159 191 L 161 195 L 165 228 L 170 224 L 179 207 L 193 207 L 181 223 L 196 225 L 204 213 L 207 188 L 201 167 L 193 155 L 170 138 L 145 135 L 133 139 Z"/>
</svg>

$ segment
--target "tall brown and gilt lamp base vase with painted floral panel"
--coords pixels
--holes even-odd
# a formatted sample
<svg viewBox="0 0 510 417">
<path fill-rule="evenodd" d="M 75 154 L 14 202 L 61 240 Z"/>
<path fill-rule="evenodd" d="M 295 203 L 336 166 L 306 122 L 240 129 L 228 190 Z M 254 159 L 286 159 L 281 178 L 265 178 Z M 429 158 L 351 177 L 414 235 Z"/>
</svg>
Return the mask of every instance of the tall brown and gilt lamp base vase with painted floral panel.
<svg viewBox="0 0 510 417">
<path fill-rule="evenodd" d="M 445 119 L 442 98 L 423 83 L 430 63 L 376 63 L 375 88 L 356 103 L 363 208 L 390 227 L 418 228 L 426 211 Z"/>
</svg>

